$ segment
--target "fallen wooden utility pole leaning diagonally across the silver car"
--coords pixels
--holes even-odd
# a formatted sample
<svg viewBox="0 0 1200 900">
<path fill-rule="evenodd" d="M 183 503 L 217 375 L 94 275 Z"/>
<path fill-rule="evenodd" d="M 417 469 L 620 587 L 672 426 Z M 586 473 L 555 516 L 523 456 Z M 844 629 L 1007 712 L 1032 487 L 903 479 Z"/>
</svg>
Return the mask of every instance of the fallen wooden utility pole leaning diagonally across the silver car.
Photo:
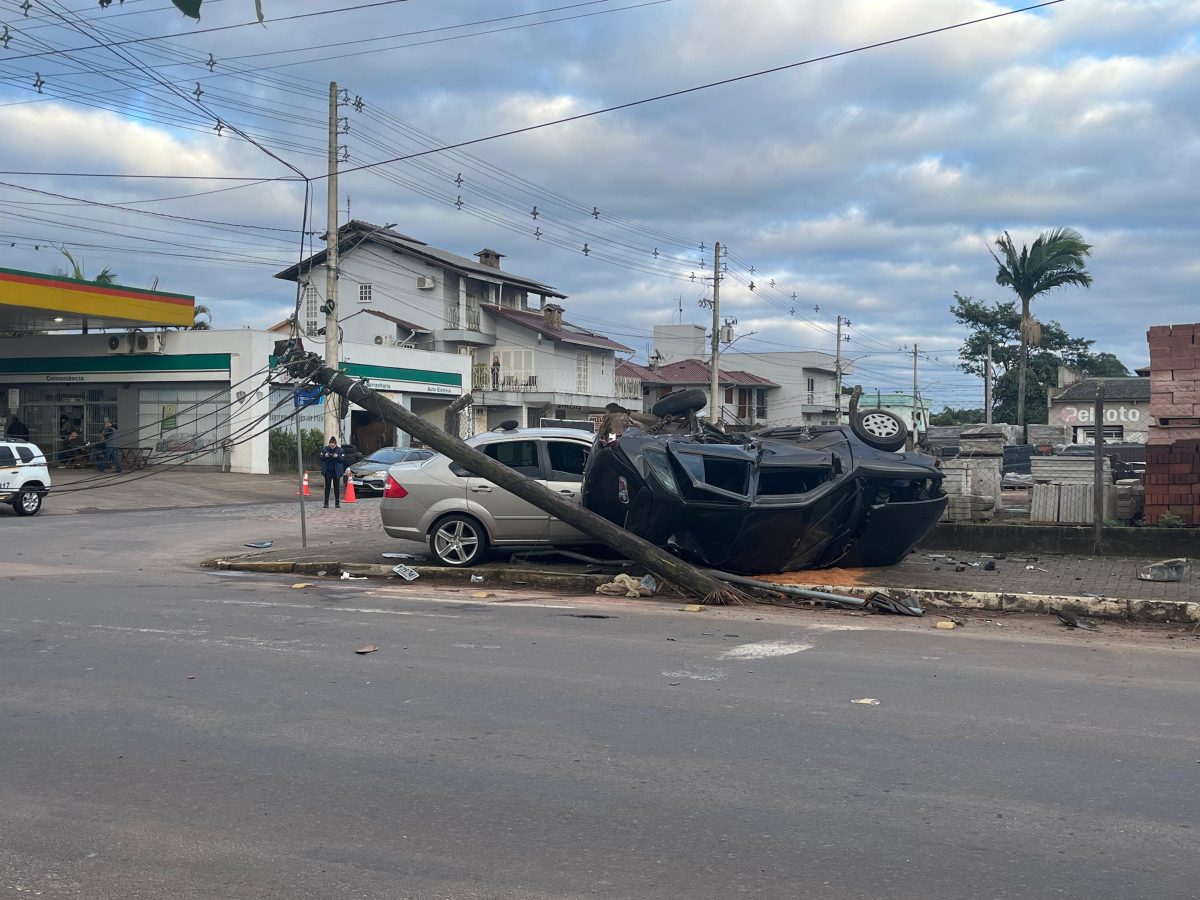
<svg viewBox="0 0 1200 900">
<path fill-rule="evenodd" d="M 704 604 L 716 605 L 739 602 L 744 598 L 736 588 L 721 583 L 712 575 L 707 575 L 678 557 L 664 552 L 649 541 L 642 540 L 608 520 L 601 518 L 595 512 L 583 509 L 580 504 L 560 497 L 533 479 L 514 472 L 504 463 L 485 456 L 415 413 L 410 413 L 364 386 L 360 382 L 322 365 L 320 358 L 316 354 L 292 352 L 280 362 L 293 377 L 316 382 L 332 394 L 353 401 L 368 413 L 374 413 L 384 421 L 449 456 L 473 475 L 486 478 L 492 484 L 515 493 L 538 509 L 623 553 L 635 563 L 644 565 L 659 580 L 676 586 L 689 596 L 697 598 Z"/>
</svg>

